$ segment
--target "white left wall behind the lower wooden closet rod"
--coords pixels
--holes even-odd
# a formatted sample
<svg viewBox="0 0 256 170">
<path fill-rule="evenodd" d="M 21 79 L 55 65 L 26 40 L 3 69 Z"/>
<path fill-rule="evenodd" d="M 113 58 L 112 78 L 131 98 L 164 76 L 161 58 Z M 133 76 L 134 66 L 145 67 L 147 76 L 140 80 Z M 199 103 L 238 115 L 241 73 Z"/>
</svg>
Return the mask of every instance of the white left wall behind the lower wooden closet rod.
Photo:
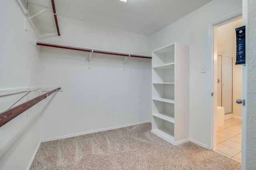
<svg viewBox="0 0 256 170">
<path fill-rule="evenodd" d="M 0 22 L 0 90 L 39 86 L 39 58 L 34 46 L 37 36 L 31 27 L 25 31 L 25 16 L 16 1 L 0 3 Z M 23 95 L 1 97 L 0 112 Z M 30 98 L 34 95 L 31 93 Z M 40 142 L 38 108 L 34 106 L 0 127 L 1 170 L 27 168 Z"/>
</svg>

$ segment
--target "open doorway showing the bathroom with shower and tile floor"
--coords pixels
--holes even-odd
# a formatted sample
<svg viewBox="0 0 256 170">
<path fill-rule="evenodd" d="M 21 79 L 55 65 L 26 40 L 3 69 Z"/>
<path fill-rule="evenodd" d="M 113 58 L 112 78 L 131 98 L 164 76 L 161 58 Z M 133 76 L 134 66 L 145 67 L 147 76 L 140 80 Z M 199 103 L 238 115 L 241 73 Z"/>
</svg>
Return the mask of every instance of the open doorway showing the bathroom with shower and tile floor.
<svg viewBox="0 0 256 170">
<path fill-rule="evenodd" d="M 241 162 L 242 105 L 236 104 L 236 99 L 242 99 L 242 66 L 235 65 L 235 28 L 242 26 L 242 12 L 222 18 L 211 26 L 212 149 Z"/>
</svg>

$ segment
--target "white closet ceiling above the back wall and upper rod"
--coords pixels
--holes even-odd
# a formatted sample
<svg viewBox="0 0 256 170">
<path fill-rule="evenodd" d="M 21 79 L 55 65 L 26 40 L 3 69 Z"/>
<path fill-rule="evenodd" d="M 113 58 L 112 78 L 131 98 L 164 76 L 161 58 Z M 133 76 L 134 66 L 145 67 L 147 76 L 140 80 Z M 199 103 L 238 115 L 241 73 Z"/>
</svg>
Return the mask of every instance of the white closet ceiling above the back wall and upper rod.
<svg viewBox="0 0 256 170">
<path fill-rule="evenodd" d="M 212 0 L 55 0 L 57 16 L 152 35 Z M 29 0 L 51 7 L 50 0 Z M 31 5 L 32 6 L 34 5 Z M 34 7 L 33 7 L 34 8 Z M 37 10 L 32 9 L 33 13 Z M 36 17 L 42 32 L 54 23 L 50 10 Z M 46 24 L 46 18 L 49 23 Z M 55 25 L 54 25 L 55 26 Z M 51 26 L 50 26 L 51 28 Z M 61 28 L 60 28 L 61 29 Z"/>
</svg>

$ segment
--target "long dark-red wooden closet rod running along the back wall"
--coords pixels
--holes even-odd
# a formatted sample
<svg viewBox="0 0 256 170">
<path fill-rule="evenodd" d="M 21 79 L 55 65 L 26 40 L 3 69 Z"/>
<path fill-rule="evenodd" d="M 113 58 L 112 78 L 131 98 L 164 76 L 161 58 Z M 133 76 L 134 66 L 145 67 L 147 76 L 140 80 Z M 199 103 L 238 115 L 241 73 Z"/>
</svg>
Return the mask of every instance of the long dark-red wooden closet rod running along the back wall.
<svg viewBox="0 0 256 170">
<path fill-rule="evenodd" d="M 61 48 L 61 49 L 70 49 L 70 50 L 78 50 L 78 51 L 88 51 L 93 53 L 101 53 L 101 54 L 110 54 L 110 55 L 120 55 L 120 56 L 126 56 L 126 57 L 138 57 L 138 58 L 146 58 L 146 59 L 152 59 L 150 56 L 142 56 L 142 55 L 130 55 L 125 53 L 115 53 L 115 52 L 108 52 L 108 51 L 98 51 L 93 49 L 84 49 L 84 48 L 78 48 L 78 47 L 68 47 L 64 45 L 53 45 L 53 44 L 47 44 L 47 43 L 36 43 L 36 45 L 46 46 L 46 47 L 55 47 L 55 48 Z"/>
</svg>

